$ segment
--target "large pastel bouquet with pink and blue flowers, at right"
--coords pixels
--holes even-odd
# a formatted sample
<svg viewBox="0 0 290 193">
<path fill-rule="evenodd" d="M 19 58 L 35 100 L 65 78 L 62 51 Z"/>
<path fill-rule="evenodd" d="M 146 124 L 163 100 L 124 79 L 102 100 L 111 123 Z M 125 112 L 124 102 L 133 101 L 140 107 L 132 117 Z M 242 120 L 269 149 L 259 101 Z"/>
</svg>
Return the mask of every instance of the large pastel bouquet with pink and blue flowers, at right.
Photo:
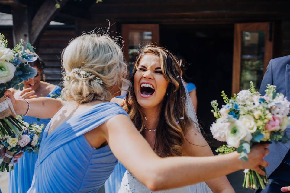
<svg viewBox="0 0 290 193">
<path fill-rule="evenodd" d="M 247 161 L 253 144 L 285 143 L 289 140 L 285 130 L 290 124 L 290 102 L 283 94 L 276 93 L 276 86 L 268 84 L 265 92 L 261 96 L 250 82 L 250 90 L 241 90 L 231 99 L 222 91 L 226 105 L 221 109 L 216 100 L 211 102 L 212 112 L 217 118 L 211 125 L 211 133 L 218 141 L 227 143 L 217 152 L 226 154 L 237 151 L 240 159 Z M 266 173 L 264 168 L 263 171 Z M 269 183 L 267 174 L 261 176 L 249 169 L 244 172 L 243 187 L 265 189 L 266 183 Z"/>
</svg>

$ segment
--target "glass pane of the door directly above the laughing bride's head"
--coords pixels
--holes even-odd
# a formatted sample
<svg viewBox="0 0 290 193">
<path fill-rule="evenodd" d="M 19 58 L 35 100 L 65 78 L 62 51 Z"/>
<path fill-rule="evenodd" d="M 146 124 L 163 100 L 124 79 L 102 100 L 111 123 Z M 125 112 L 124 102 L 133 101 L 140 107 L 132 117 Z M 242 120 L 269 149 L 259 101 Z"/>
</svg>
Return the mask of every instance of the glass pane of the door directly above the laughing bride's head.
<svg viewBox="0 0 290 193">
<path fill-rule="evenodd" d="M 147 44 L 152 43 L 152 32 L 129 32 L 129 66 L 130 72 L 133 70 L 136 55 L 139 49 Z"/>
</svg>

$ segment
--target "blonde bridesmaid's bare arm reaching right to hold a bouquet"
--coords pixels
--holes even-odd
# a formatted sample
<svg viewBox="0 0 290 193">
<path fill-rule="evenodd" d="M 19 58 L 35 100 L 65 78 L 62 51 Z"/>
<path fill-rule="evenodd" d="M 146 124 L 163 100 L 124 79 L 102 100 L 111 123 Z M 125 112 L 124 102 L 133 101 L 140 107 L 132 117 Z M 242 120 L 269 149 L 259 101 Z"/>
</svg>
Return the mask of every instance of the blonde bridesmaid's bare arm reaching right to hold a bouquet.
<svg viewBox="0 0 290 193">
<path fill-rule="evenodd" d="M 264 175 L 259 165 L 268 166 L 263 160 L 269 153 L 268 145 L 253 147 L 247 162 L 241 161 L 237 152 L 210 157 L 160 158 L 126 115 L 109 119 L 102 125 L 102 130 L 118 160 L 153 191 L 208 181 L 245 168 Z"/>
</svg>

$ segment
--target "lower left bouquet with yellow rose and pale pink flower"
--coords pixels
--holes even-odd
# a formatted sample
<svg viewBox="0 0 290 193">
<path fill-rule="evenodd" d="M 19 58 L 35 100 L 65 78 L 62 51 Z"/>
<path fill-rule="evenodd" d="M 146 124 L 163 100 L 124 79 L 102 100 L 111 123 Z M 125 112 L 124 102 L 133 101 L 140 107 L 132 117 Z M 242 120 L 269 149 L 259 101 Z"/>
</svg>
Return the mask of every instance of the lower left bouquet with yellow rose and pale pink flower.
<svg viewBox="0 0 290 193">
<path fill-rule="evenodd" d="M 37 125 L 35 122 L 34 124 L 28 124 L 21 117 L 17 117 L 17 119 L 25 125 L 24 130 L 17 134 L 0 138 L 0 149 L 6 149 L 5 158 L 0 159 L 0 172 L 4 172 L 5 170 L 9 172 L 13 169 L 13 157 L 17 153 L 21 151 L 38 153 L 39 150 L 40 134 L 45 125 Z"/>
</svg>

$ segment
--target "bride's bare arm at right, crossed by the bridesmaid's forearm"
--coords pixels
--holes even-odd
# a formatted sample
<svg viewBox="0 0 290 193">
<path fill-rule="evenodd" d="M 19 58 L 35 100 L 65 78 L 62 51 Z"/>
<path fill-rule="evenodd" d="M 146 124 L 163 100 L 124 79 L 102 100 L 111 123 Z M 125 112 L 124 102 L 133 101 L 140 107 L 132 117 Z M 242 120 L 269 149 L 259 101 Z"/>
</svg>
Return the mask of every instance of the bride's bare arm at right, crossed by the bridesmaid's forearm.
<svg viewBox="0 0 290 193">
<path fill-rule="evenodd" d="M 192 128 L 185 134 L 183 145 L 184 154 L 187 156 L 213 156 L 208 143 L 202 134 Z M 205 182 L 213 193 L 234 193 L 234 188 L 230 185 L 226 176 L 221 176 Z"/>
</svg>

